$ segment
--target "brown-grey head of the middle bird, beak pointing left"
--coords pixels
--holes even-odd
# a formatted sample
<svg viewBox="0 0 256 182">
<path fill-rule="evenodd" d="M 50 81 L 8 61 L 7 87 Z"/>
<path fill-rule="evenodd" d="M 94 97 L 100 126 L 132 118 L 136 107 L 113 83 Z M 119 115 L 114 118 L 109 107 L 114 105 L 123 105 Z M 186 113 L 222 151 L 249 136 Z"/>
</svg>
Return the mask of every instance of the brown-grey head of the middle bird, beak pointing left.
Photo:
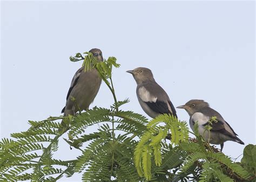
<svg viewBox="0 0 256 182">
<path fill-rule="evenodd" d="M 149 68 L 138 67 L 126 72 L 133 75 L 133 78 L 137 82 L 137 84 L 144 81 L 154 81 L 153 74 Z"/>
</svg>

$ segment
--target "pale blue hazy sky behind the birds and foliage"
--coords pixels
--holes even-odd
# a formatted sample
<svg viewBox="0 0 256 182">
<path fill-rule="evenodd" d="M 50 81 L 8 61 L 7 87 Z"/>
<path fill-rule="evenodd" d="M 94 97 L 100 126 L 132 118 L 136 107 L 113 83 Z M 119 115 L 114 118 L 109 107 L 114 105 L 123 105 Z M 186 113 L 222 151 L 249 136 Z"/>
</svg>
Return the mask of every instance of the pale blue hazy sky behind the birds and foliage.
<svg viewBox="0 0 256 182">
<path fill-rule="evenodd" d="M 136 82 L 125 71 L 148 67 L 175 107 L 204 99 L 246 145 L 255 144 L 253 1 L 1 5 L 1 138 L 25 131 L 28 120 L 59 116 L 71 79 L 82 65 L 70 62 L 70 55 L 97 47 L 104 58 L 114 56 L 121 64 L 113 69 L 113 81 L 118 100 L 131 100 L 123 110 L 145 115 Z M 102 84 L 91 108 L 112 103 Z M 185 110 L 177 109 L 177 115 L 189 120 Z M 60 159 L 80 155 L 60 145 L 65 151 Z M 226 142 L 223 152 L 235 158 L 243 149 L 244 145 Z"/>
</svg>

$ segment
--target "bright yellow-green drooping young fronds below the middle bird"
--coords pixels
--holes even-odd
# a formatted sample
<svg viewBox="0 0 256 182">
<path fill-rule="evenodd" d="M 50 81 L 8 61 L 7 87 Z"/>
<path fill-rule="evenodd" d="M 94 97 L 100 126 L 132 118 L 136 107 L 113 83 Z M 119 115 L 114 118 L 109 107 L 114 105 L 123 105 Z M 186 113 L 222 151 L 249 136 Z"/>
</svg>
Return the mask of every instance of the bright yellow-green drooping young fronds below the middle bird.
<svg viewBox="0 0 256 182">
<path fill-rule="evenodd" d="M 165 125 L 160 125 L 164 123 Z M 134 151 L 134 162 L 140 177 L 145 176 L 151 180 L 151 158 L 154 156 L 154 163 L 160 166 L 161 146 L 164 145 L 165 137 L 171 132 L 171 143 L 178 145 L 180 142 L 188 139 L 188 127 L 184 121 L 179 121 L 176 117 L 163 114 L 154 118 L 147 124 L 147 130 L 141 137 Z"/>
</svg>

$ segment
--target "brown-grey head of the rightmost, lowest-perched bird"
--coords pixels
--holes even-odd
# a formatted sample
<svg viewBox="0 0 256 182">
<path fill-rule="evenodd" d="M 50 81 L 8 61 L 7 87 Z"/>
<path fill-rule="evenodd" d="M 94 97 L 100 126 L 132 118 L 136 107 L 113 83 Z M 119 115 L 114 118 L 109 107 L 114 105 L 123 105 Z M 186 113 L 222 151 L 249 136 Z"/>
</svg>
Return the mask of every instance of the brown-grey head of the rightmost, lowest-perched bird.
<svg viewBox="0 0 256 182">
<path fill-rule="evenodd" d="M 192 116 L 194 113 L 199 111 L 201 108 L 209 107 L 209 104 L 205 102 L 204 100 L 190 100 L 183 106 L 178 106 L 179 109 L 185 109 L 188 113 L 188 115 Z"/>
</svg>

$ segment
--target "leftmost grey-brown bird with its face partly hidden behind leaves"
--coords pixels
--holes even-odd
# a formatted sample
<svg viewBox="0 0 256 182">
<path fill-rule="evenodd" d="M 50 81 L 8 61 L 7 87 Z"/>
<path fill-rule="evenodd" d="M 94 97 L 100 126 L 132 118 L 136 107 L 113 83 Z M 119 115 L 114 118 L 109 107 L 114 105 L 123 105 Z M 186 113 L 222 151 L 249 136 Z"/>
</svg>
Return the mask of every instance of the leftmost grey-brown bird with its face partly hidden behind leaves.
<svg viewBox="0 0 256 182">
<path fill-rule="evenodd" d="M 98 61 L 103 61 L 102 51 L 98 48 L 93 48 L 89 52 Z M 66 96 L 66 106 L 62 109 L 64 116 L 74 116 L 78 110 L 89 109 L 90 104 L 99 91 L 101 83 L 102 79 L 96 69 L 84 72 L 84 67 L 79 68 L 73 76 L 68 95 Z"/>
</svg>

